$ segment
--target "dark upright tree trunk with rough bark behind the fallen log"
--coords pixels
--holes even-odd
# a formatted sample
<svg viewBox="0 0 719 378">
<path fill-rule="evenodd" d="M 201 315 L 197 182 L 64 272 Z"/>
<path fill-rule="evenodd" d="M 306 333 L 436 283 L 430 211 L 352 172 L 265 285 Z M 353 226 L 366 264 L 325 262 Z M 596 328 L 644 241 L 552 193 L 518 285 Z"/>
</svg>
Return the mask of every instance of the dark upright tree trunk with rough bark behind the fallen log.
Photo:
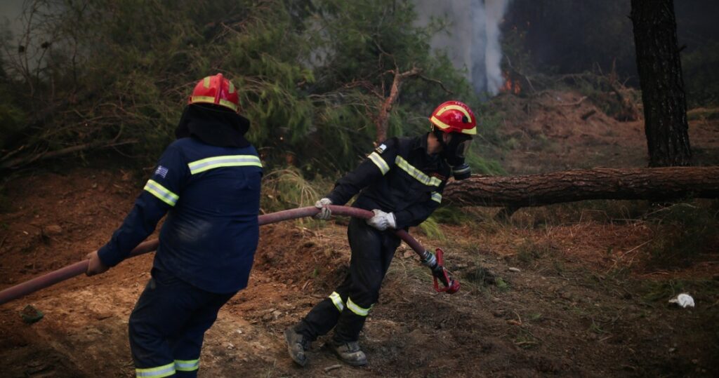
<svg viewBox="0 0 719 378">
<path fill-rule="evenodd" d="M 690 165 L 674 0 L 631 0 L 649 166 Z"/>
</svg>

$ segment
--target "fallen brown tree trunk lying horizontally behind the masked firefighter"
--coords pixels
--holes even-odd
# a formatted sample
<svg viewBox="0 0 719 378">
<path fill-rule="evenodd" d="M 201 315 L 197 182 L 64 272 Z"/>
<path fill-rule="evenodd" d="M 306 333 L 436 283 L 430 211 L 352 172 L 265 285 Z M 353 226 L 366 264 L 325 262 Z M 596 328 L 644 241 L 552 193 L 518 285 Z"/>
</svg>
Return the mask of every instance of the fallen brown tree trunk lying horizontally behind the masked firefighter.
<svg viewBox="0 0 719 378">
<path fill-rule="evenodd" d="M 446 185 L 454 205 L 521 208 L 577 200 L 719 198 L 719 167 L 594 168 L 514 177 L 472 176 Z"/>
</svg>

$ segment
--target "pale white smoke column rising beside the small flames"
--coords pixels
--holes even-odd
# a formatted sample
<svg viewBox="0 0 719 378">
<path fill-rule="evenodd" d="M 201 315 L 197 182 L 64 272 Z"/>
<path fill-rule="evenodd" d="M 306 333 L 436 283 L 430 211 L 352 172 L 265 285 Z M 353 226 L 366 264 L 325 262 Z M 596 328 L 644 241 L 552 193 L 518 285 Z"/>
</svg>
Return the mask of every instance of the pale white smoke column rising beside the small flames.
<svg viewBox="0 0 719 378">
<path fill-rule="evenodd" d="M 510 0 L 414 0 L 420 24 L 431 18 L 447 22 L 431 46 L 445 50 L 454 66 L 464 68 L 477 93 L 495 95 L 504 83 L 500 63 L 500 23 Z"/>
</svg>

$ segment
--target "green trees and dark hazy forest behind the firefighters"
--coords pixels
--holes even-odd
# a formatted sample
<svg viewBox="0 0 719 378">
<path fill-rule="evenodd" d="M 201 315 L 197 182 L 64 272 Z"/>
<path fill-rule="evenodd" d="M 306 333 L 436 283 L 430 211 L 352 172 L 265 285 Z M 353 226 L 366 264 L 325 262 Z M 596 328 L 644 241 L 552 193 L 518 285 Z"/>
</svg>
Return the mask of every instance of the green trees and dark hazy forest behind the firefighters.
<svg viewBox="0 0 719 378">
<path fill-rule="evenodd" d="M 621 0 L 510 1 L 500 24 L 509 91 L 569 86 L 617 119 L 641 116 L 605 96 L 620 86 L 641 102 L 629 8 Z M 717 10 L 710 1 L 676 4 L 690 109 L 719 103 Z M 240 88 L 249 139 L 268 171 L 290 180 L 334 180 L 372 149 L 377 124 L 390 137 L 424 132 L 426 117 L 450 98 L 480 115 L 474 172 L 502 174 L 514 141 L 500 131 L 511 109 L 503 96 L 473 91 L 467 68 L 430 46 L 448 33 L 443 16 L 430 14 L 422 26 L 414 2 L 399 0 L 25 1 L 24 32 L 6 27 L 2 40 L 0 167 L 104 156 L 151 169 L 193 84 L 221 72 Z M 393 79 L 410 72 L 383 115 Z"/>
</svg>

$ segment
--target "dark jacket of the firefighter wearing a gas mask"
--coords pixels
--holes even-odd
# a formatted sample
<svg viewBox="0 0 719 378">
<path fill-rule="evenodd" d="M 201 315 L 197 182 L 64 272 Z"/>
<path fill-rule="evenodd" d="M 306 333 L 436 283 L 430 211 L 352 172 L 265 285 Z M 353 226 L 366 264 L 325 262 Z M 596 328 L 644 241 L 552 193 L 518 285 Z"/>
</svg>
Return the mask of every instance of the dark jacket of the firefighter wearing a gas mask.
<svg viewBox="0 0 719 378">
<path fill-rule="evenodd" d="M 344 205 L 393 212 L 397 229 L 418 226 L 442 201 L 452 167 L 439 155 L 427 155 L 427 134 L 390 138 L 337 183 L 327 198 Z"/>
</svg>

